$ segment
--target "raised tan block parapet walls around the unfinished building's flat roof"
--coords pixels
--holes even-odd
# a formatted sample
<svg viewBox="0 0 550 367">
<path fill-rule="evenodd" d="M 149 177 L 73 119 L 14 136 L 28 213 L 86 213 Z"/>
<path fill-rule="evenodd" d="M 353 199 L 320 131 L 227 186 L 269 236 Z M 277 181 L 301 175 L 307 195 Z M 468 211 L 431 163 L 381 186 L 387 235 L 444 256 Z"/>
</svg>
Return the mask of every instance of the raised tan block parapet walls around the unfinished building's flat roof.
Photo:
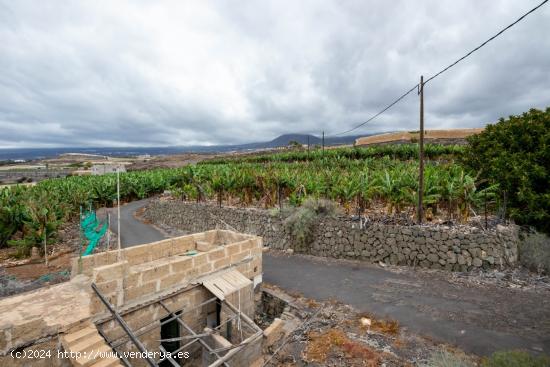
<svg viewBox="0 0 550 367">
<path fill-rule="evenodd" d="M 186 251 L 195 249 L 197 241 L 216 247 L 185 256 Z M 84 257 L 82 272 L 119 308 L 184 287 L 198 277 L 225 268 L 235 267 L 249 279 L 262 272 L 262 239 L 231 231 L 213 230 L 123 249 L 120 255 L 111 253 Z M 78 261 L 73 262 L 73 272 L 80 270 Z M 90 309 L 94 314 L 107 312 L 96 296 L 92 297 Z"/>
</svg>

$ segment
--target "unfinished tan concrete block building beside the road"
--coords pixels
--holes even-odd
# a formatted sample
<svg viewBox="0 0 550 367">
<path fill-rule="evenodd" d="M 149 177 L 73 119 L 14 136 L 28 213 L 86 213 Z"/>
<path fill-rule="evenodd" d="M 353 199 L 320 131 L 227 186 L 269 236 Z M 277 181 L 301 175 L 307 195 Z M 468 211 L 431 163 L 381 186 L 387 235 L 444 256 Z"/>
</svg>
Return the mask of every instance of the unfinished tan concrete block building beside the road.
<svg viewBox="0 0 550 367">
<path fill-rule="evenodd" d="M 2 366 L 250 366 L 262 239 L 225 230 L 74 259 L 70 282 L 0 301 Z"/>
</svg>

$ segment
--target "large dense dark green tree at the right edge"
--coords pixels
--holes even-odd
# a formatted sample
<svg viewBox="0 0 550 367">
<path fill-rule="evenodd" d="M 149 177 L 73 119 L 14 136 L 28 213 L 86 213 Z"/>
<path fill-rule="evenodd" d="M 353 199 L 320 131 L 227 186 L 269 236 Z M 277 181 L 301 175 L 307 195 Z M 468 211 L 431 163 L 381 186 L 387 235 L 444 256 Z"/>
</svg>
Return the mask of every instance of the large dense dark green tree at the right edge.
<svg viewBox="0 0 550 367">
<path fill-rule="evenodd" d="M 510 218 L 550 233 L 550 108 L 500 119 L 468 141 L 464 164 L 507 193 Z"/>
</svg>

